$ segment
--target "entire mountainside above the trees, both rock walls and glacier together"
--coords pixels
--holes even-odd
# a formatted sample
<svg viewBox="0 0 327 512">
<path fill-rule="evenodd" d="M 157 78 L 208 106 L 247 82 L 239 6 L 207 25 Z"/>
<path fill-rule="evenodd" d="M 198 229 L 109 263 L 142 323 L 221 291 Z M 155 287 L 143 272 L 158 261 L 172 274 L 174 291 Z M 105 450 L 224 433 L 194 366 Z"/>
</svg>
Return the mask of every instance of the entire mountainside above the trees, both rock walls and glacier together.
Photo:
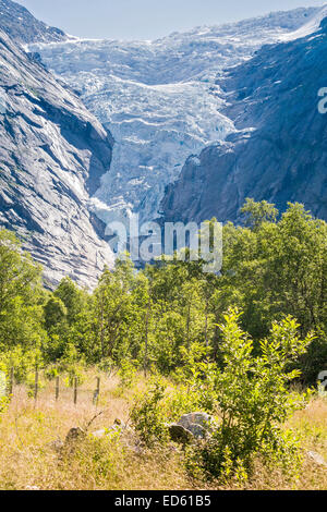
<svg viewBox="0 0 327 512">
<path fill-rule="evenodd" d="M 326 9 L 131 42 L 0 10 L 0 225 L 50 284 L 92 287 L 106 223 L 131 212 L 239 220 L 251 196 L 327 218 Z"/>
</svg>

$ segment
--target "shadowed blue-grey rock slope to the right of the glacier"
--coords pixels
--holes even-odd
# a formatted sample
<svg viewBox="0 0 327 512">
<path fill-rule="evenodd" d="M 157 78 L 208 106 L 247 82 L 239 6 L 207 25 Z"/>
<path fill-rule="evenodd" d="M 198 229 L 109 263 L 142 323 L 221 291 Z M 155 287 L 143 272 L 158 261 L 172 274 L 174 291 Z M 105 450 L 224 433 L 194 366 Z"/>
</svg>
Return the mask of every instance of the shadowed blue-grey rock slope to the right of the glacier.
<svg viewBox="0 0 327 512">
<path fill-rule="evenodd" d="M 166 190 L 166 220 L 238 220 L 246 197 L 280 210 L 301 202 L 327 220 L 327 115 L 317 108 L 327 86 L 324 16 L 326 8 L 286 42 L 265 46 L 219 77 L 228 102 L 221 113 L 237 131 L 187 159 Z"/>
</svg>

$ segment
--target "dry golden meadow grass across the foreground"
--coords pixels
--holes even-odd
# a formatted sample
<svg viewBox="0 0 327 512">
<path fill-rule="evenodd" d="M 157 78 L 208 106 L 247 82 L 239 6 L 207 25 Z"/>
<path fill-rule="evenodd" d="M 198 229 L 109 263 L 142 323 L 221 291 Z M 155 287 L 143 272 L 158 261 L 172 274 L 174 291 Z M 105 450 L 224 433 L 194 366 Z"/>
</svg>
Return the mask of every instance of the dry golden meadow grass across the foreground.
<svg viewBox="0 0 327 512">
<path fill-rule="evenodd" d="M 72 427 L 86 428 L 98 414 L 89 431 L 109 427 L 116 418 L 129 422 L 135 388 L 122 391 L 117 377 L 101 378 L 98 406 L 92 403 L 95 375 L 89 373 L 81 387 L 77 404 L 72 390 L 55 400 L 53 383 L 47 385 L 35 403 L 24 387 L 14 397 L 0 423 L 0 489 L 120 489 L 178 490 L 223 488 L 216 483 L 194 481 L 183 465 L 183 452 L 177 446 L 140 449 L 135 442 L 121 442 L 118 436 L 96 439 L 87 436 L 71 451 L 58 453 L 52 442 L 64 440 Z M 288 424 L 300 436 L 303 465 L 296 477 L 287 478 L 280 471 L 268 471 L 257 463 L 246 484 L 225 488 L 246 489 L 327 489 L 327 470 L 307 458 L 318 452 L 327 461 L 327 401 L 315 398 Z"/>
</svg>

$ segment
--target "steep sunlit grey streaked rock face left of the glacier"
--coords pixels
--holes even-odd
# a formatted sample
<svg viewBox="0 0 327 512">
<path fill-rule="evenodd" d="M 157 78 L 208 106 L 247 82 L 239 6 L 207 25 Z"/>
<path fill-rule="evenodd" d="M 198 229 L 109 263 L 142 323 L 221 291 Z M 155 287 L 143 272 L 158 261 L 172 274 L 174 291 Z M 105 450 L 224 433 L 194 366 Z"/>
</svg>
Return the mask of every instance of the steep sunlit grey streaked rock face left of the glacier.
<svg viewBox="0 0 327 512">
<path fill-rule="evenodd" d="M 17 232 L 49 283 L 66 275 L 93 287 L 112 265 L 87 208 L 112 144 L 81 100 L 0 31 L 0 227 Z"/>
</svg>

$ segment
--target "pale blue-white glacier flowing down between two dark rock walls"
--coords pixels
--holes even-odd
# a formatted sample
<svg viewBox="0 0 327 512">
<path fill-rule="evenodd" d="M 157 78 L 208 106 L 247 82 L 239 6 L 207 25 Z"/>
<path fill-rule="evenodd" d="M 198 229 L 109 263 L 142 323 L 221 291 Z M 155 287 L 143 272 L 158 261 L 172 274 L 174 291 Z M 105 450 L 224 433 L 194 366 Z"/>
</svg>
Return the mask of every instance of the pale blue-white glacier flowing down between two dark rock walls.
<svg viewBox="0 0 327 512">
<path fill-rule="evenodd" d="M 317 9 L 298 9 L 156 41 L 85 40 L 29 45 L 47 68 L 78 89 L 116 139 L 110 171 L 92 198 L 104 222 L 138 211 L 158 216 L 165 187 L 186 158 L 235 132 L 217 83 L 223 69 L 288 37 Z"/>
</svg>

